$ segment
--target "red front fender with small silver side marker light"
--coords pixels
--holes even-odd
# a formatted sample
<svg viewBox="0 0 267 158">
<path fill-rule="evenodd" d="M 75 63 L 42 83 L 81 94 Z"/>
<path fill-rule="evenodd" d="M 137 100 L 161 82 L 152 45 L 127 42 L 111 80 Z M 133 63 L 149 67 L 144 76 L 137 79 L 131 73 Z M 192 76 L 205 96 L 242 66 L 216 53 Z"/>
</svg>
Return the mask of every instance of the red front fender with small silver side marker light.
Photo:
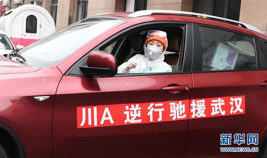
<svg viewBox="0 0 267 158">
<path fill-rule="evenodd" d="M 27 157 L 52 157 L 53 104 L 62 73 L 57 68 L 29 73 L 26 69 L 1 74 L 0 121 L 18 135 Z M 39 102 L 35 96 L 50 98 Z"/>
</svg>

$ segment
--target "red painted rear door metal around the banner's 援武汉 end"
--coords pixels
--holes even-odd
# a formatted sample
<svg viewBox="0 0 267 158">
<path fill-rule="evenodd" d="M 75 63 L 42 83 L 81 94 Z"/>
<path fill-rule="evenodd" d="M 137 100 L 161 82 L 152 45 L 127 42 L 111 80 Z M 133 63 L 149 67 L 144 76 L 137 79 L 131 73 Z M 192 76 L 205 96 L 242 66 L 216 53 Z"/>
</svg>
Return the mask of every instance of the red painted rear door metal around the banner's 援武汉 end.
<svg viewBox="0 0 267 158">
<path fill-rule="evenodd" d="M 259 147 L 259 145 L 220 145 L 220 134 L 257 133 L 259 143 L 267 125 L 267 70 L 192 74 L 194 88 L 191 98 L 245 95 L 245 114 L 190 119 L 185 157 L 249 157 L 246 152 L 220 152 L 220 147 Z M 265 119 L 264 119 L 265 118 Z M 266 132 L 266 131 L 265 131 Z M 261 134 L 261 135 L 260 135 Z M 264 135 L 264 136 L 263 136 Z M 193 151 L 193 152 L 192 152 Z M 253 153 L 255 154 L 255 153 Z"/>
</svg>

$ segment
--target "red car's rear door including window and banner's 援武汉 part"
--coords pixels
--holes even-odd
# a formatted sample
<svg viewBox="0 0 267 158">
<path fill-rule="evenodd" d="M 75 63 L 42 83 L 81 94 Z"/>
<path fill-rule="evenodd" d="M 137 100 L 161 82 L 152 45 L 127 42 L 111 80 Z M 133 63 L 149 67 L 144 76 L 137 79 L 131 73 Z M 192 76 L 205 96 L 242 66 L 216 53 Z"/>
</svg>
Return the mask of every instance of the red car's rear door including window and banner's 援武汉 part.
<svg viewBox="0 0 267 158">
<path fill-rule="evenodd" d="M 267 70 L 257 70 L 260 50 L 246 34 L 196 25 L 193 29 L 194 48 L 201 51 L 194 50 L 190 111 L 195 115 L 189 116 L 185 157 L 249 157 L 247 152 L 221 152 L 220 147 L 261 143 L 259 139 L 248 145 L 247 139 L 247 134 L 262 137 L 267 125 L 267 89 L 260 85 L 267 80 Z M 228 144 L 224 134 L 231 134 Z"/>
</svg>

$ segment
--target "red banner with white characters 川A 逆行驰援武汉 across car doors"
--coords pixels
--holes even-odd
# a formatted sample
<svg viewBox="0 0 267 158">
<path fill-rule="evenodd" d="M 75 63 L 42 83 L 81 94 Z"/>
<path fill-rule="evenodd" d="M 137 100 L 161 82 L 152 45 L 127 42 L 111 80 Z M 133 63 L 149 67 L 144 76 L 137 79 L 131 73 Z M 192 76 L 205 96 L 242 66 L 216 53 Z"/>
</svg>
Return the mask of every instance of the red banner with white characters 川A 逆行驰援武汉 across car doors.
<svg viewBox="0 0 267 158">
<path fill-rule="evenodd" d="M 245 114 L 245 96 L 77 107 L 77 128 Z"/>
</svg>

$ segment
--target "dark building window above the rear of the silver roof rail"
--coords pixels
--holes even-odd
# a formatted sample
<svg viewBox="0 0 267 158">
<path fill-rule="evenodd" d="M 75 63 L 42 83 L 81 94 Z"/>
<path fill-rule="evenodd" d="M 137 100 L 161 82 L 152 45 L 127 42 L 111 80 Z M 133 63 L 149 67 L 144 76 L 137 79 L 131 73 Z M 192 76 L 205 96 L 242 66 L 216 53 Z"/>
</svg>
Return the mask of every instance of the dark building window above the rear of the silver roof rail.
<svg viewBox="0 0 267 158">
<path fill-rule="evenodd" d="M 194 0 L 193 12 L 239 21 L 240 6 L 241 0 Z M 226 22 L 220 19 L 213 20 Z"/>
</svg>

